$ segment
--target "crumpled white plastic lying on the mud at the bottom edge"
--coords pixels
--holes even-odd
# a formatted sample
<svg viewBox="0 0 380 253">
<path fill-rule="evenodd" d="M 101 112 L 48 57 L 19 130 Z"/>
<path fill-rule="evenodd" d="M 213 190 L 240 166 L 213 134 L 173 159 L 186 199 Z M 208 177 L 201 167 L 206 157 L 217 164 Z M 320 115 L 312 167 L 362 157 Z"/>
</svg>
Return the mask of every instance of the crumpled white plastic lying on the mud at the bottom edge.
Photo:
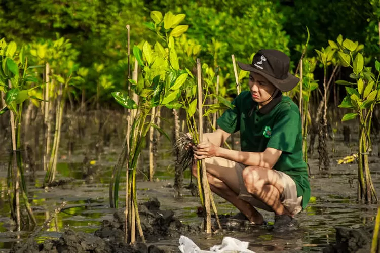
<svg viewBox="0 0 380 253">
<path fill-rule="evenodd" d="M 179 238 L 179 250 L 182 253 L 255 253 L 248 249 L 249 242 L 240 241 L 232 237 L 224 237 L 221 245 L 215 245 L 209 251 L 201 250 L 191 239 L 181 235 Z"/>
</svg>

